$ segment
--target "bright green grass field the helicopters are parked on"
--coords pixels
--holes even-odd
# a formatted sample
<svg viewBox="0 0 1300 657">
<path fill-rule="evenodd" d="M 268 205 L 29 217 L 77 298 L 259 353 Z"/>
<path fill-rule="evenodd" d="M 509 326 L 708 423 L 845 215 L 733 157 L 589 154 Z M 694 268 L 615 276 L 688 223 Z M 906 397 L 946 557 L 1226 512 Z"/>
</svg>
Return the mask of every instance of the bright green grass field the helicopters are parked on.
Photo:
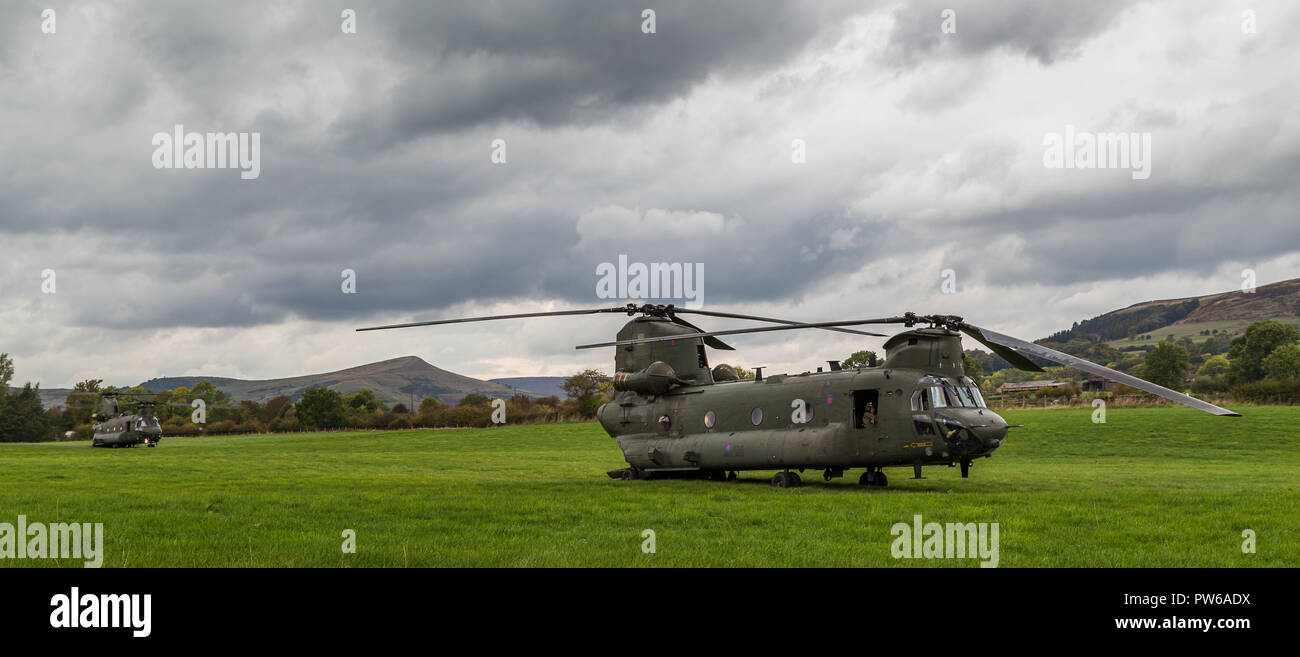
<svg viewBox="0 0 1300 657">
<path fill-rule="evenodd" d="M 976 565 L 892 558 L 889 530 L 914 514 L 998 523 L 1001 567 L 1300 566 L 1300 409 L 1245 414 L 1008 411 L 1028 427 L 971 479 L 890 468 L 884 489 L 857 471 L 798 489 L 772 472 L 614 481 L 623 459 L 594 423 L 0 445 L 0 522 L 104 523 L 105 567 Z"/>
</svg>

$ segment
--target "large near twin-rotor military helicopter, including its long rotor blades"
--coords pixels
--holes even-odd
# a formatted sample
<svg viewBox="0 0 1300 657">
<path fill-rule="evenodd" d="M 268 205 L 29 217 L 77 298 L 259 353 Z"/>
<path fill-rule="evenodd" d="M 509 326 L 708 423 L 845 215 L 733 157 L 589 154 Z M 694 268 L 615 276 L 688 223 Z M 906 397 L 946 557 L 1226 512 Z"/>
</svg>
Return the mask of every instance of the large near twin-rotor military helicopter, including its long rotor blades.
<svg viewBox="0 0 1300 657">
<path fill-rule="evenodd" d="M 806 470 L 829 481 L 862 468 L 863 485 L 887 485 L 885 467 L 961 467 L 989 457 L 1006 440 L 1008 424 L 989 410 L 979 386 L 962 367 L 961 334 L 989 347 L 1020 369 L 1043 371 L 1030 356 L 1066 364 L 1214 415 L 1227 409 L 1117 372 L 1108 367 L 967 324 L 953 315 L 911 312 L 880 319 L 800 323 L 753 315 L 675 306 L 628 304 L 618 308 L 529 312 L 489 317 L 419 321 L 358 330 L 380 330 L 497 319 L 640 315 L 612 342 L 577 349 L 616 347 L 614 399 L 597 419 L 628 462 L 608 472 L 615 479 L 703 476 L 736 479 L 746 470 L 777 470 L 774 487 L 800 485 Z M 677 315 L 698 314 L 781 324 L 706 332 Z M 753 380 L 719 364 L 710 368 L 705 347 L 732 350 L 719 336 L 793 329 L 824 329 L 888 337 L 846 327 L 901 324 L 907 330 L 884 343 L 883 363 L 844 369 L 763 376 Z"/>
</svg>

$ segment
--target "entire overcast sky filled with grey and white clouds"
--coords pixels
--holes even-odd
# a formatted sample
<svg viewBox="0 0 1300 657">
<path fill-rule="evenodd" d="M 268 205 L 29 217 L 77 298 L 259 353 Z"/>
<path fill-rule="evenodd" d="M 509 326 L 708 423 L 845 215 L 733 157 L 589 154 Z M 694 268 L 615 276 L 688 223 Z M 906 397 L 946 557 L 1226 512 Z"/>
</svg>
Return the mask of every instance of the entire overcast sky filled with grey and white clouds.
<svg viewBox="0 0 1300 657">
<path fill-rule="evenodd" d="M 608 371 L 572 346 L 618 316 L 352 329 L 618 306 L 620 255 L 702 263 L 711 310 L 1031 340 L 1297 277 L 1300 5 L 1245 5 L 5 3 L 0 351 L 47 388 Z M 156 168 L 177 125 L 259 133 L 260 176 Z M 1149 135 L 1149 177 L 1046 167 L 1067 126 Z M 880 345 L 731 342 L 770 372 Z"/>
</svg>

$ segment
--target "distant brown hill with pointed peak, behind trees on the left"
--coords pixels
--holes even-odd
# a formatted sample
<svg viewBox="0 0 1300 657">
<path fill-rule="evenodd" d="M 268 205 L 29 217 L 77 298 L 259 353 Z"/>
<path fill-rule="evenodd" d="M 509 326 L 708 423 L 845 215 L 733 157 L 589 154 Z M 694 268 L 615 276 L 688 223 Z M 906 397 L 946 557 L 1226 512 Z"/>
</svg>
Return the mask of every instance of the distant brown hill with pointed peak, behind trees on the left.
<svg viewBox="0 0 1300 657">
<path fill-rule="evenodd" d="M 289 379 L 248 381 L 222 376 L 172 376 L 151 379 L 140 385 L 152 392 L 162 392 L 178 386 L 194 388 L 199 381 L 212 381 L 217 389 L 237 401 L 251 399 L 263 403 L 278 396 L 298 401 L 308 388 L 329 388 L 341 393 L 355 393 L 361 388 L 369 388 L 389 405 L 398 402 L 410 405 L 412 397 L 415 403 L 420 403 L 424 397 L 436 397 L 443 403 L 454 405 L 469 393 L 488 397 L 510 397 L 514 393 L 506 385 L 448 372 L 416 356 Z"/>
</svg>

